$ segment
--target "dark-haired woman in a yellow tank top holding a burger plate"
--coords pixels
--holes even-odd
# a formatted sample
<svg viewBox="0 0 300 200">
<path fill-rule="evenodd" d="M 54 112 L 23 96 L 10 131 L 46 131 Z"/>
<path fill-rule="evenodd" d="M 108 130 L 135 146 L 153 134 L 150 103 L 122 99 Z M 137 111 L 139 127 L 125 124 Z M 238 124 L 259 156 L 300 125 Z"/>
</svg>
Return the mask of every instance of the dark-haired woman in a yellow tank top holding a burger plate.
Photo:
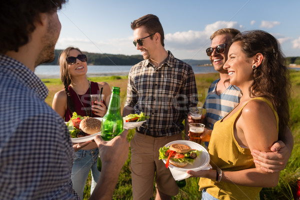
<svg viewBox="0 0 300 200">
<path fill-rule="evenodd" d="M 214 124 L 208 145 L 212 169 L 187 171 L 201 177 L 202 199 L 255 199 L 262 187 L 277 185 L 279 172 L 261 170 L 251 150 L 270 151 L 288 125 L 290 83 L 283 63 L 278 41 L 267 32 L 247 31 L 232 39 L 223 68 L 243 95 Z"/>
</svg>

